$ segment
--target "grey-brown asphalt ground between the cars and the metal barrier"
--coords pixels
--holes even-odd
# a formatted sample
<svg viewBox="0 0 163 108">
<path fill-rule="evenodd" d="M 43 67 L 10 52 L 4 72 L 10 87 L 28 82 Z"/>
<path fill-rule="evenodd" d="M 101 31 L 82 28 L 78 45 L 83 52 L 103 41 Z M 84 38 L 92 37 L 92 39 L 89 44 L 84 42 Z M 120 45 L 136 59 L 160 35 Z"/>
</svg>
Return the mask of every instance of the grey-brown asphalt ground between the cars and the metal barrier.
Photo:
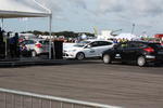
<svg viewBox="0 0 163 108">
<path fill-rule="evenodd" d="M 0 68 L 0 87 L 124 108 L 163 108 L 163 66 L 138 67 L 98 59 Z"/>
</svg>

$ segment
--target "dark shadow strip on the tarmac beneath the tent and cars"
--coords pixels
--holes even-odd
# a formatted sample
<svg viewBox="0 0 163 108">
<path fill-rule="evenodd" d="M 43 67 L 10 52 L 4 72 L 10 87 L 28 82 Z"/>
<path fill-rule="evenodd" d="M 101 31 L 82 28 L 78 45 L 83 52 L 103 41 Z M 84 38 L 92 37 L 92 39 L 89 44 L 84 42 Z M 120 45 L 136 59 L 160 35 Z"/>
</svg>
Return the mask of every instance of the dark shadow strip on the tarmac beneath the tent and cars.
<svg viewBox="0 0 163 108">
<path fill-rule="evenodd" d="M 18 68 L 18 67 L 32 67 L 32 66 L 59 66 L 59 65 L 83 65 L 83 64 L 103 64 L 100 58 L 88 58 L 84 60 L 77 59 L 48 59 L 48 58 L 21 58 L 21 59 L 1 59 L 0 68 Z M 121 66 L 137 66 L 135 63 L 112 63 L 110 65 Z M 156 67 L 162 68 L 163 64 L 154 65 L 148 64 L 145 67 Z"/>
</svg>

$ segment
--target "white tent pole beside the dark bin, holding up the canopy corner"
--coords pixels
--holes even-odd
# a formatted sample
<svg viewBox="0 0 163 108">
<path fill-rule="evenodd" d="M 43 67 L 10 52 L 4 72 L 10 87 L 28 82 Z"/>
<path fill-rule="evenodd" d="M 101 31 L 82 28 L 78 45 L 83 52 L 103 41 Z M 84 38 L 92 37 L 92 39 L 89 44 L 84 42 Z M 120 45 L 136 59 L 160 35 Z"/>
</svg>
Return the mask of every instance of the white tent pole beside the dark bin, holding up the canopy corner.
<svg viewBox="0 0 163 108">
<path fill-rule="evenodd" d="M 50 14 L 49 16 L 49 36 L 50 36 L 50 40 L 49 40 L 49 59 L 51 59 L 51 43 L 52 43 L 52 38 L 51 38 L 51 28 L 52 28 L 52 14 Z"/>
</svg>

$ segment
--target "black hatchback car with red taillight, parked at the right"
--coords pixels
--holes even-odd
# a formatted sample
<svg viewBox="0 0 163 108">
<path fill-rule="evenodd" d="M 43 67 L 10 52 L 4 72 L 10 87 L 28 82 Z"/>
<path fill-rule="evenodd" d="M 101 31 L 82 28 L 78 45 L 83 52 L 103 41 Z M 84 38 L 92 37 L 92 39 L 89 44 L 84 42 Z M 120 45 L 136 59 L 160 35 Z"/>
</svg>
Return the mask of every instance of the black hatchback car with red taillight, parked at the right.
<svg viewBox="0 0 163 108">
<path fill-rule="evenodd" d="M 148 63 L 163 62 L 163 46 L 160 43 L 128 41 L 118 43 L 102 54 L 104 64 L 112 62 L 135 62 L 138 66 L 145 66 Z"/>
</svg>

